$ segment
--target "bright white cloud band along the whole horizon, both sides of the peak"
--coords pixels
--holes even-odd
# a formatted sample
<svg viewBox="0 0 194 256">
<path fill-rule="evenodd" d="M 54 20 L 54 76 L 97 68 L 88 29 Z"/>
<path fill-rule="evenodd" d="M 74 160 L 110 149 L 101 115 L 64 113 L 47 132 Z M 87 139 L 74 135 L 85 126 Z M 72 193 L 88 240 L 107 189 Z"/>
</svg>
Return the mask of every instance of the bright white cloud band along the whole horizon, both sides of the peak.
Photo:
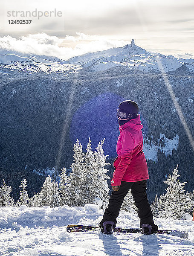
<svg viewBox="0 0 194 256">
<path fill-rule="evenodd" d="M 56 56 L 67 60 L 71 57 L 82 55 L 87 52 L 96 52 L 113 47 L 123 47 L 130 44 L 130 41 L 121 39 L 107 39 L 101 35 L 89 35 L 83 32 L 75 32 L 74 35 L 65 35 L 64 38 L 55 35 L 48 35 L 44 32 L 29 34 L 19 38 L 4 36 L 0 37 L 0 54 L 15 53 L 18 55 L 46 55 Z M 174 55 L 177 58 L 194 58 L 191 51 L 188 49 L 180 50 L 184 45 L 184 38 L 179 39 L 179 42 L 171 41 L 170 38 L 156 38 L 158 41 L 150 41 L 149 38 L 134 38 L 138 46 L 148 50 L 149 52 L 161 52 L 165 55 Z M 188 39 L 188 38 L 187 38 Z M 191 40 L 190 40 L 191 41 Z M 179 44 L 178 44 L 179 43 Z M 173 48 L 178 44 L 180 49 Z M 161 48 L 163 46 L 163 48 Z M 166 47 L 168 46 L 168 48 Z M 172 46 L 172 49 L 169 48 Z M 186 47 L 187 48 L 187 47 Z M 177 53 L 179 52 L 179 53 Z"/>
</svg>

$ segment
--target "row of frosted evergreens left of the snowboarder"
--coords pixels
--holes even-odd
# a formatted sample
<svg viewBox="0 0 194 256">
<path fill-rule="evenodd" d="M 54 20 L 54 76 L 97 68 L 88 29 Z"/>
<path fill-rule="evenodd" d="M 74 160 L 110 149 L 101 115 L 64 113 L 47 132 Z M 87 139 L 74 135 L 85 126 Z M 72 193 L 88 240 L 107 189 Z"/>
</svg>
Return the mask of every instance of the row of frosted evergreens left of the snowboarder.
<svg viewBox="0 0 194 256">
<path fill-rule="evenodd" d="M 66 168 L 61 171 L 60 181 L 52 181 L 50 175 L 46 177 L 41 192 L 34 194 L 29 198 L 26 191 L 27 182 L 24 179 L 21 182 L 20 198 L 14 201 L 10 197 L 11 186 L 7 186 L 3 179 L 3 185 L 0 188 L 0 206 L 1 207 L 20 207 L 27 205 L 29 207 L 59 207 L 63 205 L 84 206 L 85 204 L 98 204 L 104 208 L 109 199 L 109 188 L 106 175 L 107 169 L 104 166 L 107 155 L 104 155 L 102 148 L 104 140 L 98 143 L 95 151 L 92 151 L 91 140 L 89 138 L 86 153 L 83 153 L 82 145 L 77 140 L 73 146 L 73 163 L 71 173 L 67 175 Z"/>
</svg>

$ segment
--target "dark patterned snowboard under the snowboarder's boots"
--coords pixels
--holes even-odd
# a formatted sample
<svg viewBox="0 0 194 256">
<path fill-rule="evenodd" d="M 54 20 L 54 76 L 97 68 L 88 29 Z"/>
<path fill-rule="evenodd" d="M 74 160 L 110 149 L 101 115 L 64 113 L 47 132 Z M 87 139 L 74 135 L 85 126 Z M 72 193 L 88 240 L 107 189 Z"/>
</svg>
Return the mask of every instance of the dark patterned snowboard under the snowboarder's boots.
<svg viewBox="0 0 194 256">
<path fill-rule="evenodd" d="M 85 231 L 98 231 L 99 227 L 96 226 L 85 226 L 85 225 L 68 225 L 68 232 L 85 232 Z M 116 233 L 142 233 L 140 229 L 136 228 L 113 228 L 113 232 Z M 171 236 L 178 236 L 181 238 L 188 238 L 188 233 L 186 231 L 177 231 L 177 230 L 158 230 L 155 234 L 168 234 Z"/>
</svg>

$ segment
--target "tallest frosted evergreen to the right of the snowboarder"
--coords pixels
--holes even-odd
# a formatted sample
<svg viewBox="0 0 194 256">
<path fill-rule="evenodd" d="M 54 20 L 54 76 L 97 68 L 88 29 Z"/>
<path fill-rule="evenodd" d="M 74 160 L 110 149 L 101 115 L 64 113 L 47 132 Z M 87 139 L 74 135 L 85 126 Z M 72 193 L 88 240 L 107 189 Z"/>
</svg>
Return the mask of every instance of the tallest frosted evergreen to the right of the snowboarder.
<svg viewBox="0 0 194 256">
<path fill-rule="evenodd" d="M 184 186 L 186 182 L 180 182 L 180 175 L 177 168 L 174 169 L 173 175 L 168 175 L 168 179 L 164 183 L 168 184 L 165 194 L 165 202 L 163 209 L 159 211 L 159 217 L 162 218 L 182 218 L 186 209 L 186 196 Z"/>
</svg>

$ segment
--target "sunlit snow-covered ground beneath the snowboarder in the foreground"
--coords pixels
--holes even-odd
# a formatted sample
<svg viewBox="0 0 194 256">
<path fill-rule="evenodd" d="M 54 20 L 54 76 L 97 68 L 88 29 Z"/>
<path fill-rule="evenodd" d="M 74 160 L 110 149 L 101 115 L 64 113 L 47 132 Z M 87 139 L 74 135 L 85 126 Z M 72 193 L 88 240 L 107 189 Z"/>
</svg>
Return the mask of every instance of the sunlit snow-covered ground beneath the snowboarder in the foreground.
<svg viewBox="0 0 194 256">
<path fill-rule="evenodd" d="M 185 230 L 188 239 L 167 234 L 99 231 L 67 233 L 67 224 L 98 225 L 103 210 L 85 207 L 0 208 L 0 256 L 194 256 L 194 221 L 155 218 L 160 229 Z M 121 211 L 117 227 L 139 227 L 139 219 Z"/>
</svg>

